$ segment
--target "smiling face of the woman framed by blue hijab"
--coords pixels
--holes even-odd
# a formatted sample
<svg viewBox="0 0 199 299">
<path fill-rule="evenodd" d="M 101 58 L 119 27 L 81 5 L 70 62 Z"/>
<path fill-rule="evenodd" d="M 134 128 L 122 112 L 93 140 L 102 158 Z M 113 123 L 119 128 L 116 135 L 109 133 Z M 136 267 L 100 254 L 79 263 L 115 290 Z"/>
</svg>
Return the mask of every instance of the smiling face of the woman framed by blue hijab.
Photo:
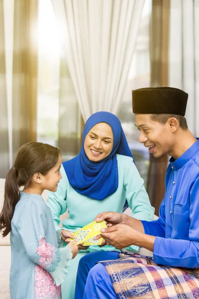
<svg viewBox="0 0 199 299">
<path fill-rule="evenodd" d="M 84 150 L 91 161 L 98 162 L 107 157 L 113 147 L 113 133 L 106 123 L 95 125 L 87 134 Z"/>
</svg>

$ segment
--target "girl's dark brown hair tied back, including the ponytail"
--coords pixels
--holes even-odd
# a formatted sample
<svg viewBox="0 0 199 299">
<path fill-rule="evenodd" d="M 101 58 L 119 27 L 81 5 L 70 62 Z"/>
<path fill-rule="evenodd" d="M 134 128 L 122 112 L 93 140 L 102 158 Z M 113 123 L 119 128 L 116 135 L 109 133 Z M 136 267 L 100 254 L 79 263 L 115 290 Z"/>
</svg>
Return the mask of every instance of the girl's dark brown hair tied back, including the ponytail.
<svg viewBox="0 0 199 299">
<path fill-rule="evenodd" d="M 4 203 L 0 213 L 0 231 L 5 237 L 11 231 L 14 208 L 20 199 L 19 188 L 27 187 L 35 173 L 46 175 L 59 159 L 60 150 L 48 144 L 29 142 L 17 152 L 14 166 L 5 179 Z"/>
</svg>

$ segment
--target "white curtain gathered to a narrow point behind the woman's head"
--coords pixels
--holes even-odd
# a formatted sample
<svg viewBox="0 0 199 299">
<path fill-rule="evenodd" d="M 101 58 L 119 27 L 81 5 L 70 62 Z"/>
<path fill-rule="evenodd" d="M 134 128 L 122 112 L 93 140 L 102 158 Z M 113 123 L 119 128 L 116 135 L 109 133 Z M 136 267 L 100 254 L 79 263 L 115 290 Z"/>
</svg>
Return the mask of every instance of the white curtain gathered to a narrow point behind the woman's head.
<svg viewBox="0 0 199 299">
<path fill-rule="evenodd" d="M 84 121 L 117 114 L 144 0 L 52 0 Z"/>
</svg>

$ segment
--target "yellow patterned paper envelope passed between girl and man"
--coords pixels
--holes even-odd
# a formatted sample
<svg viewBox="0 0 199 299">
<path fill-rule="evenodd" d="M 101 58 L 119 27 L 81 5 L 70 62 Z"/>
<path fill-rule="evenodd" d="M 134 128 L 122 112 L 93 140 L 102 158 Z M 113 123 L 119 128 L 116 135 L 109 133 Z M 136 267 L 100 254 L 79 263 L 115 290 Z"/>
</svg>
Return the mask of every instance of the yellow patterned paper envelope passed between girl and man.
<svg viewBox="0 0 199 299">
<path fill-rule="evenodd" d="M 105 221 L 97 222 L 93 221 L 83 228 L 79 229 L 77 232 L 73 233 L 73 235 L 78 238 L 78 242 L 76 245 L 84 243 L 83 246 L 89 246 L 89 245 L 101 245 L 102 238 L 99 240 L 93 240 L 94 237 L 97 235 L 100 235 L 100 229 L 106 228 Z M 70 241 L 73 241 L 73 239 L 70 238 Z M 85 244 L 85 242 L 87 243 Z"/>
</svg>

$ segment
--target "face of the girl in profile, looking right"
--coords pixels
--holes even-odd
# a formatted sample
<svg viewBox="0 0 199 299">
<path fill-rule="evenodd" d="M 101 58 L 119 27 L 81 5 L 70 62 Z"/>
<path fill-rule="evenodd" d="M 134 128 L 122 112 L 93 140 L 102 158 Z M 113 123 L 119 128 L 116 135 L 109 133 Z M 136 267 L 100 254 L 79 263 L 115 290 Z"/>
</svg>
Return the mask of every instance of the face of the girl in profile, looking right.
<svg viewBox="0 0 199 299">
<path fill-rule="evenodd" d="M 62 164 L 62 158 L 61 155 L 59 155 L 58 161 L 53 166 L 46 175 L 42 176 L 42 187 L 46 190 L 56 192 L 57 186 L 62 178 L 62 175 L 60 173 L 60 167 Z"/>
</svg>

